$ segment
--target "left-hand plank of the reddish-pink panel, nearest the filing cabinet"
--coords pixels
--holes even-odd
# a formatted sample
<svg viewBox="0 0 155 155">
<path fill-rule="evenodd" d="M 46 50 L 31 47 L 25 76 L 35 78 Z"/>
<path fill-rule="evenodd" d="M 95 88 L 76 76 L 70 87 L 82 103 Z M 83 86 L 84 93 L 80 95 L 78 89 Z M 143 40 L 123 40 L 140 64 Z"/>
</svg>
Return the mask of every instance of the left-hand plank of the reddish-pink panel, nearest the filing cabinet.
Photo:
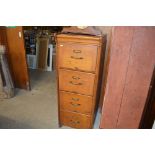
<svg viewBox="0 0 155 155">
<path fill-rule="evenodd" d="M 115 27 L 112 30 L 110 63 L 100 128 L 116 128 L 133 32 L 133 27 Z"/>
</svg>

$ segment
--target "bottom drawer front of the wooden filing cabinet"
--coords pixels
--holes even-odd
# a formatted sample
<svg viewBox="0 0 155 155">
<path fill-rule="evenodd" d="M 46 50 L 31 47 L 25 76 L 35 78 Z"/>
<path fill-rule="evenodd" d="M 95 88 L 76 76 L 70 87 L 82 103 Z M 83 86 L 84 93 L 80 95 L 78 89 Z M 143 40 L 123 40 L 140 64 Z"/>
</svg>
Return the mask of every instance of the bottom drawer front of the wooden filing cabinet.
<svg viewBox="0 0 155 155">
<path fill-rule="evenodd" d="M 60 120 L 63 125 L 70 126 L 72 128 L 83 129 L 83 128 L 90 128 L 91 126 L 91 117 L 78 113 L 61 111 Z"/>
</svg>

